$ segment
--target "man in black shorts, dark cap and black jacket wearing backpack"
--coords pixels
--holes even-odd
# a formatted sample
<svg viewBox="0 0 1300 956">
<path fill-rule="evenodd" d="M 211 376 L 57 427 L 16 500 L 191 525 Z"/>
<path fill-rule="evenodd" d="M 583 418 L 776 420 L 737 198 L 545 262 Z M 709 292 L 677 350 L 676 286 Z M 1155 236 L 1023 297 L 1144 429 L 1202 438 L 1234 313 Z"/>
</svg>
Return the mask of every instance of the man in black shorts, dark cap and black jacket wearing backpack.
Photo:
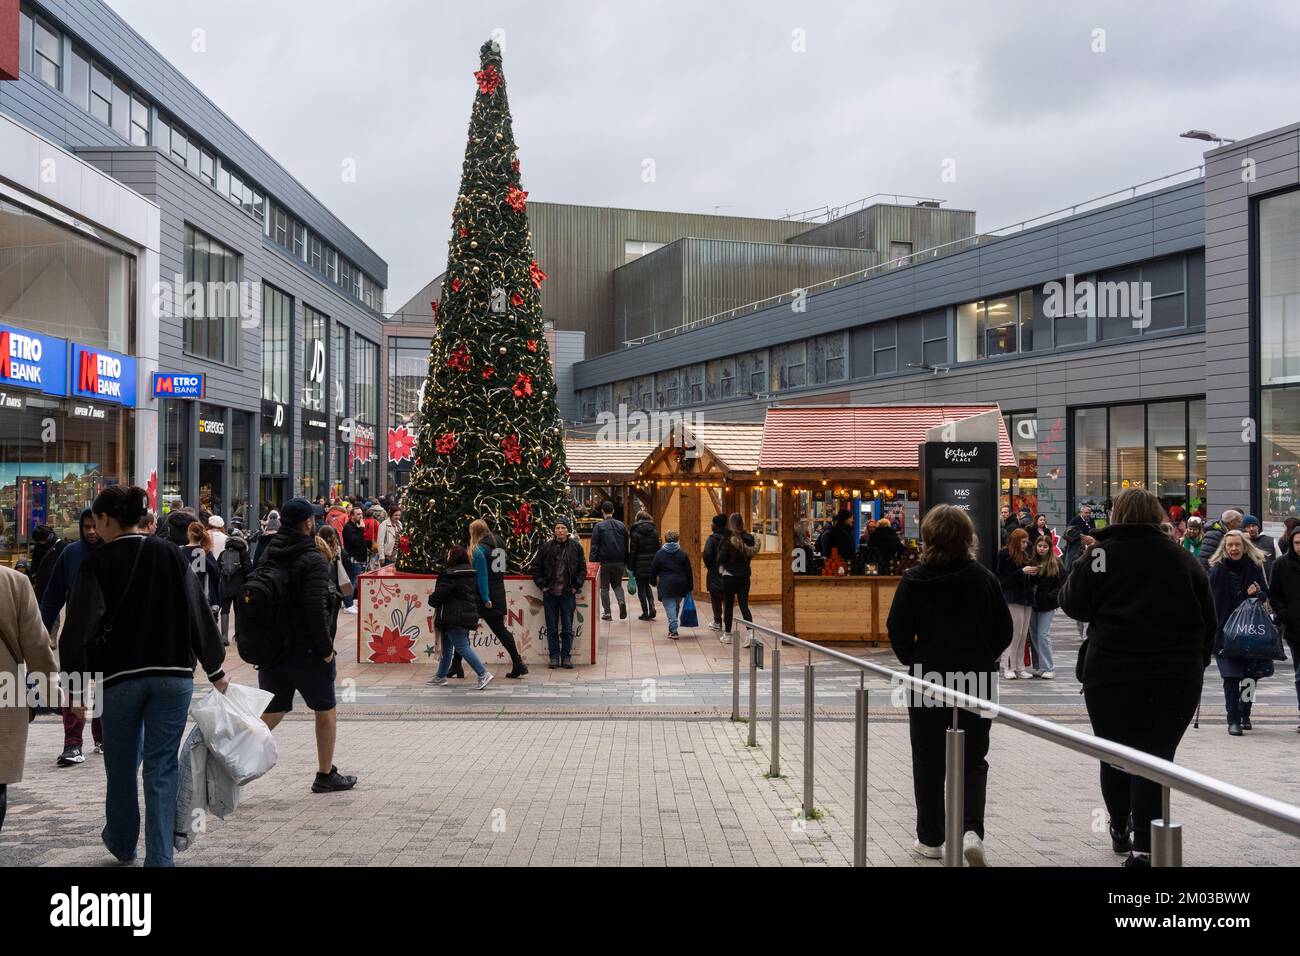
<svg viewBox="0 0 1300 956">
<path fill-rule="evenodd" d="M 329 562 L 316 550 L 315 525 L 312 503 L 306 498 L 292 498 L 280 509 L 280 531 L 268 545 L 265 559 L 280 563 L 289 572 L 289 606 L 280 619 L 290 635 L 289 649 L 283 661 L 257 671 L 257 685 L 276 695 L 261 715 L 272 730 L 294 709 L 294 691 L 303 696 L 308 710 L 315 711 L 318 766 L 312 792 L 332 793 L 351 790 L 356 778 L 341 774 L 334 766 L 338 607 L 330 589 Z"/>
</svg>

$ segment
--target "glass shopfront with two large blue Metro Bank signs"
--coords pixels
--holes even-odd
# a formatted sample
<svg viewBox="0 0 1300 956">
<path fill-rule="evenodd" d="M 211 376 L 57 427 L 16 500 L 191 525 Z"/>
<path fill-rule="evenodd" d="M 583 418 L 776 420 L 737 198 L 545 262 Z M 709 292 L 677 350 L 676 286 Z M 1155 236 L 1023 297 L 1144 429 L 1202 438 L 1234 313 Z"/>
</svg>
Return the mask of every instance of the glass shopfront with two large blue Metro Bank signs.
<svg viewBox="0 0 1300 956">
<path fill-rule="evenodd" d="M 131 481 L 135 259 L 0 199 L 0 561 Z"/>
</svg>

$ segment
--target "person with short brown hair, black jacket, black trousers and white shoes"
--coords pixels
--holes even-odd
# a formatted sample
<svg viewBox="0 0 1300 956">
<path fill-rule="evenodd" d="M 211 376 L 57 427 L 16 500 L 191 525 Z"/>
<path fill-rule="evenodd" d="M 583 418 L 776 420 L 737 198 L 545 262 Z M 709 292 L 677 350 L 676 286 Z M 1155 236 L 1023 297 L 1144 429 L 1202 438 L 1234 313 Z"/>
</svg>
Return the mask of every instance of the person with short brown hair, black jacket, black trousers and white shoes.
<svg viewBox="0 0 1300 956">
<path fill-rule="evenodd" d="M 1011 643 L 1011 614 L 1002 588 L 975 561 L 975 525 L 965 511 L 937 505 L 920 525 L 920 563 L 898 581 L 889 609 L 889 644 L 915 675 L 944 675 L 944 685 L 988 700 L 997 658 Z M 928 678 L 927 678 L 928 679 Z M 920 856 L 939 858 L 944 843 L 944 734 L 950 708 L 913 696 L 907 706 L 911 775 L 916 795 L 916 842 Z M 991 718 L 958 711 L 966 731 L 966 792 L 962 852 L 984 865 L 984 792 L 988 784 Z"/>
</svg>

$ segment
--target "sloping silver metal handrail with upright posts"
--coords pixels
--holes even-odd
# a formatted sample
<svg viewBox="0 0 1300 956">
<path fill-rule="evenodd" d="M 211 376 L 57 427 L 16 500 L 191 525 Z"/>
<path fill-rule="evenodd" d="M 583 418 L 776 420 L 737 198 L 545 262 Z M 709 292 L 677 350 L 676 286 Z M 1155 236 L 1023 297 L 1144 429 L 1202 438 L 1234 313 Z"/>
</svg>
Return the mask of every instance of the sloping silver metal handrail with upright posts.
<svg viewBox="0 0 1300 956">
<path fill-rule="evenodd" d="M 1004 706 L 997 701 L 984 700 L 983 697 L 975 697 L 953 688 L 942 687 L 928 680 L 913 676 L 905 671 L 898 671 L 892 667 L 887 667 L 872 661 L 863 661 L 861 658 L 846 654 L 842 650 L 836 650 L 833 648 L 827 648 L 822 644 L 814 644 L 812 641 L 806 641 L 794 635 L 785 633 L 766 624 L 758 624 L 751 620 L 737 620 L 736 624 L 749 628 L 754 635 L 757 635 L 758 641 L 770 637 L 774 641 L 772 649 L 772 687 L 774 691 L 779 688 L 780 680 L 780 645 L 790 644 L 797 648 L 803 648 L 810 652 L 810 662 L 806 665 L 805 674 L 805 708 L 803 719 L 805 724 L 805 740 L 811 743 L 811 723 L 815 719 L 812 713 L 812 663 L 811 652 L 815 652 L 823 657 L 828 657 L 833 661 L 850 665 L 861 672 L 861 678 L 864 682 L 867 674 L 875 676 L 887 678 L 894 684 L 902 684 L 914 692 L 919 692 L 923 700 L 942 701 L 944 705 L 953 708 L 953 728 L 948 731 L 949 747 L 948 747 L 948 761 L 949 761 L 949 779 L 948 779 L 948 830 L 945 835 L 946 855 L 945 861 L 948 865 L 959 866 L 961 864 L 961 826 L 962 814 L 959 812 L 959 803 L 962 799 L 961 780 L 953 779 L 959 778 L 959 773 L 954 774 L 954 763 L 959 766 L 961 762 L 961 748 L 954 745 L 954 740 L 959 740 L 961 730 L 957 728 L 956 714 L 958 710 L 967 710 L 978 713 L 982 717 L 989 719 L 1002 721 L 1004 723 L 1015 727 L 1017 730 L 1031 734 L 1032 736 L 1046 740 L 1050 744 L 1063 747 L 1069 750 L 1082 753 L 1087 757 L 1093 757 L 1096 760 L 1105 761 L 1106 763 L 1118 767 L 1130 774 L 1136 774 L 1144 779 L 1152 780 L 1164 788 L 1162 793 L 1162 806 L 1164 817 L 1152 823 L 1152 849 L 1156 865 L 1182 865 L 1182 831 L 1178 823 L 1170 821 L 1169 814 L 1169 792 L 1179 791 L 1188 796 L 1196 797 L 1204 803 L 1208 803 L 1219 809 L 1227 810 L 1228 813 L 1236 814 L 1245 819 L 1251 819 L 1256 823 L 1261 823 L 1271 830 L 1278 830 L 1291 836 L 1300 838 L 1300 806 L 1288 804 L 1283 800 L 1275 797 L 1264 796 L 1262 793 L 1256 793 L 1254 791 L 1245 790 L 1244 787 L 1238 787 L 1234 783 L 1227 783 L 1218 778 L 1202 774 L 1188 767 L 1179 766 L 1173 761 L 1164 760 L 1161 757 L 1153 757 L 1143 750 L 1134 749 L 1132 747 L 1126 747 L 1124 744 L 1117 744 L 1112 740 L 1104 737 L 1097 737 L 1091 734 L 1083 734 L 1072 727 L 1063 727 L 1058 723 L 1045 721 L 1039 717 L 1032 717 L 1024 714 L 1013 708 Z M 733 680 L 737 685 L 733 688 L 732 693 L 732 719 L 740 719 L 738 704 L 740 704 L 740 649 L 738 646 L 733 650 Z M 750 662 L 750 745 L 755 743 L 754 724 L 755 724 L 755 706 L 757 695 L 754 687 L 755 676 L 755 661 L 751 656 Z M 774 700 L 772 704 L 772 739 L 779 740 L 780 732 L 780 705 L 779 697 Z M 867 713 L 866 713 L 866 689 L 864 685 L 858 688 L 858 706 L 857 706 L 857 760 L 855 777 L 861 774 L 861 778 L 855 780 L 854 787 L 854 864 L 858 866 L 866 865 L 866 726 L 867 726 Z M 780 765 L 777 760 L 777 749 L 774 747 L 772 752 L 772 777 L 780 775 Z M 812 809 L 812 754 L 811 750 L 805 753 L 805 814 Z M 956 788 L 954 788 L 956 783 Z M 859 788 L 863 791 L 859 793 Z M 954 804 L 956 812 L 954 812 Z M 956 827 L 956 829 L 954 829 Z M 861 829 L 861 830 L 859 830 Z"/>
</svg>

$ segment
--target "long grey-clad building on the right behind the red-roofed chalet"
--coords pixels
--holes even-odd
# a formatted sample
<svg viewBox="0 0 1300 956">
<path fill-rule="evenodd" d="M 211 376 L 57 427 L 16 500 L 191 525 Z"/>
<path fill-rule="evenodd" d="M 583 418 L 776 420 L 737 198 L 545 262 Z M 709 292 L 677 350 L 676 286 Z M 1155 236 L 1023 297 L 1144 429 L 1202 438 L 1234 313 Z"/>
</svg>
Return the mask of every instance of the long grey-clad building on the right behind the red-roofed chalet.
<svg viewBox="0 0 1300 956">
<path fill-rule="evenodd" d="M 1280 527 L 1300 451 L 1296 152 L 1295 130 L 1265 134 L 1186 182 L 588 359 L 581 415 L 996 402 L 1013 507 L 1063 527 L 1141 486 Z"/>
</svg>

